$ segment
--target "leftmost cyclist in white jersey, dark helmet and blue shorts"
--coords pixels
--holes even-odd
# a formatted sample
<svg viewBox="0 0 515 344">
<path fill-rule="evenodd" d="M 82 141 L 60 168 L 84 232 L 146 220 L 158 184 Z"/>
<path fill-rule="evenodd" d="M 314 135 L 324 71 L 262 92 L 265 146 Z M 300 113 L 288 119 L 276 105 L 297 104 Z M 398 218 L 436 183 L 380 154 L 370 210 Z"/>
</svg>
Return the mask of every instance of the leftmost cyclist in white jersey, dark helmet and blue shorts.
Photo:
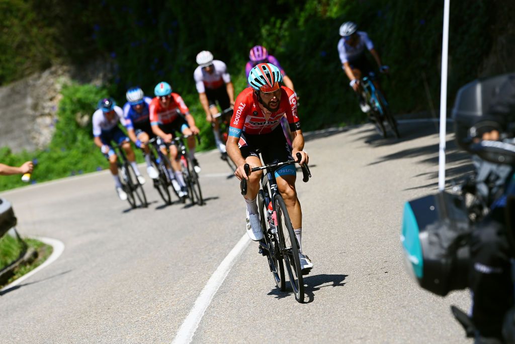
<svg viewBox="0 0 515 344">
<path fill-rule="evenodd" d="M 125 136 L 122 129 L 118 127 L 118 123 L 122 125 L 125 124 L 124 111 L 122 108 L 116 106 L 116 103 L 111 98 L 100 100 L 98 102 L 98 109 L 93 113 L 93 141 L 109 160 L 109 170 L 113 175 L 116 192 L 118 193 L 118 197 L 122 201 L 125 201 L 127 200 L 127 193 L 123 190 L 122 183 L 118 177 L 118 167 L 116 165 L 118 157 L 110 146 L 111 141 L 122 146 L 141 184 L 145 183 L 145 178 L 143 178 L 138 169 L 138 165 L 136 165 L 136 157 L 130 146 L 129 138 Z"/>
</svg>

